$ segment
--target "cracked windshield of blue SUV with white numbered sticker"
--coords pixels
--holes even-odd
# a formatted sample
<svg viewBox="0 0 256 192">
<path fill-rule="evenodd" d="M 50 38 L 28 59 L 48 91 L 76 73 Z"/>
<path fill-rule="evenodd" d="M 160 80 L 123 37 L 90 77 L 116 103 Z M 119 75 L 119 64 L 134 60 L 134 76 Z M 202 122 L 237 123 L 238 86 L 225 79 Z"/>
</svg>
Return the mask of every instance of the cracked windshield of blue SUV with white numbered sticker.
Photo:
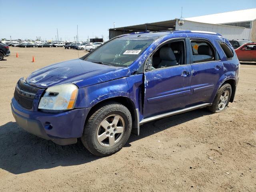
<svg viewBox="0 0 256 192">
<path fill-rule="evenodd" d="M 156 38 L 115 38 L 84 60 L 112 66 L 129 66 Z"/>
</svg>

